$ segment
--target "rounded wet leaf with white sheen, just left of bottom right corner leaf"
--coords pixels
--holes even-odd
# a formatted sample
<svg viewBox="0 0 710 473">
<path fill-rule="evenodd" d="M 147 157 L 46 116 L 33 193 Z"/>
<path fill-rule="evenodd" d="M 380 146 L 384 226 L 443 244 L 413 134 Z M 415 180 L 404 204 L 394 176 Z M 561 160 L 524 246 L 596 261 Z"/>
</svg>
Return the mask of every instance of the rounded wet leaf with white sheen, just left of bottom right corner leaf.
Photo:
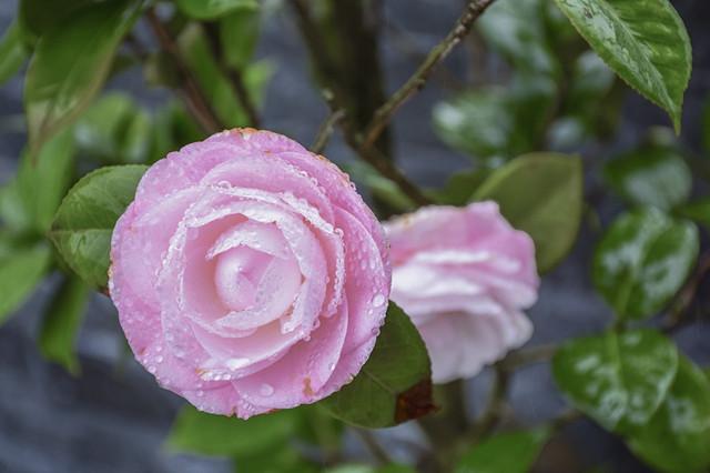
<svg viewBox="0 0 710 473">
<path fill-rule="evenodd" d="M 570 340 L 552 359 L 555 382 L 572 404 L 622 432 L 651 419 L 677 369 L 676 346 L 650 329 Z"/>
</svg>

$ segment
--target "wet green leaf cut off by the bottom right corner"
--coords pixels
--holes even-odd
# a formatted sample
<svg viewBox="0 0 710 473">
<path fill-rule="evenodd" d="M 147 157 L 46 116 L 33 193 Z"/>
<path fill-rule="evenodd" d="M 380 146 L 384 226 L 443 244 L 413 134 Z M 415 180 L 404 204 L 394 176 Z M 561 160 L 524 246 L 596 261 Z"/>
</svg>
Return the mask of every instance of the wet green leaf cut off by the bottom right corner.
<svg viewBox="0 0 710 473">
<path fill-rule="evenodd" d="M 710 465 L 710 381 L 681 356 L 666 401 L 629 440 L 641 459 L 660 471 L 707 471 Z"/>
</svg>

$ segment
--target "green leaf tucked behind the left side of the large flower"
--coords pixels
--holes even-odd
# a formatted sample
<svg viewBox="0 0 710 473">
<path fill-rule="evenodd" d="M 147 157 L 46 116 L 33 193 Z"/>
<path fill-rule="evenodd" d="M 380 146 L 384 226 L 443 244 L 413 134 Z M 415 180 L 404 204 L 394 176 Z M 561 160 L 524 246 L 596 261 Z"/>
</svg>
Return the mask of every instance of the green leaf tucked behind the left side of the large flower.
<svg viewBox="0 0 710 473">
<path fill-rule="evenodd" d="M 130 164 L 93 171 L 77 182 L 57 211 L 49 236 L 64 262 L 90 286 L 106 286 L 113 227 L 133 201 L 146 169 Z"/>
</svg>

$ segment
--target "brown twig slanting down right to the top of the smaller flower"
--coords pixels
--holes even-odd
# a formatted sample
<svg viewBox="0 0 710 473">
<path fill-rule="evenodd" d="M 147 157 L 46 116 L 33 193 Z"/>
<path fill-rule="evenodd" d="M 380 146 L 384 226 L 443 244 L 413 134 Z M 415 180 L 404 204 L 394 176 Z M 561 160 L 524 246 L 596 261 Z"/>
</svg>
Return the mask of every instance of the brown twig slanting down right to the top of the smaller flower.
<svg viewBox="0 0 710 473">
<path fill-rule="evenodd" d="M 343 110 L 343 107 L 337 102 L 337 99 L 335 98 L 335 94 L 333 92 L 325 91 L 324 97 L 326 102 L 331 107 L 331 110 Z M 377 170 L 382 175 L 397 184 L 402 192 L 407 194 L 409 199 L 412 199 L 416 204 L 428 205 L 432 203 L 432 200 L 424 195 L 419 188 L 412 181 L 409 181 L 407 177 L 404 175 L 394 163 L 392 163 L 392 161 L 382 155 L 382 153 L 375 148 L 363 147 L 363 142 L 351 124 L 347 115 L 344 115 L 339 120 L 339 123 L 341 130 L 343 130 L 343 134 L 345 137 L 345 141 L 358 153 L 358 155 L 364 161 L 375 168 L 375 170 Z"/>
</svg>

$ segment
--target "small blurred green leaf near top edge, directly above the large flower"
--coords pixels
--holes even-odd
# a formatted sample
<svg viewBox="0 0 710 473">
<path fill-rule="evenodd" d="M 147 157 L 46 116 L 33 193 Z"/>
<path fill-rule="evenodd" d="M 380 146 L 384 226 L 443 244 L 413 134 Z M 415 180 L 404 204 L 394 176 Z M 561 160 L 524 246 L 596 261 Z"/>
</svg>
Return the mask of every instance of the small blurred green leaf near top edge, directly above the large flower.
<svg viewBox="0 0 710 473">
<path fill-rule="evenodd" d="M 258 41 L 258 10 L 239 10 L 220 19 L 220 41 L 224 60 L 232 68 L 243 69 L 252 60 Z"/>
</svg>

